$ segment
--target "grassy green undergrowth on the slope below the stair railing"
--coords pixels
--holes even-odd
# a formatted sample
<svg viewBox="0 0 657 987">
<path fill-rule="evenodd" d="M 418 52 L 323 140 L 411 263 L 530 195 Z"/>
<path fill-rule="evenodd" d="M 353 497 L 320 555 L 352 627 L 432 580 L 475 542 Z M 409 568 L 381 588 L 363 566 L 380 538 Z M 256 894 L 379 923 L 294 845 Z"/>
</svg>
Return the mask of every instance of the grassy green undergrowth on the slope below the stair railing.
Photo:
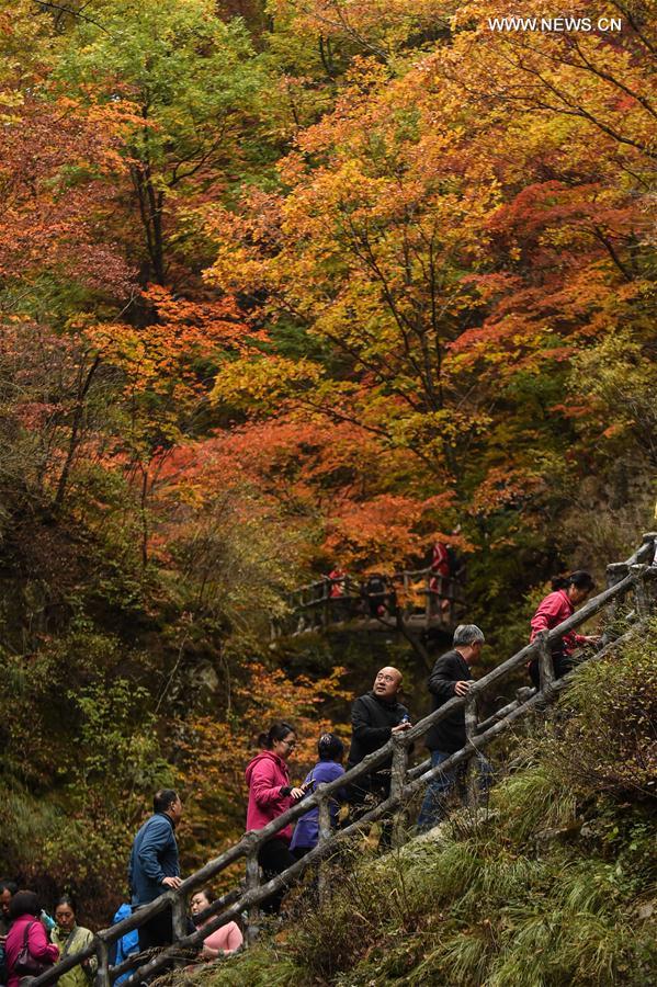
<svg viewBox="0 0 657 987">
<path fill-rule="evenodd" d="M 655 983 L 657 628 L 575 687 L 490 812 L 385 858 L 350 848 L 331 892 L 220 985 L 578 987 Z"/>
</svg>

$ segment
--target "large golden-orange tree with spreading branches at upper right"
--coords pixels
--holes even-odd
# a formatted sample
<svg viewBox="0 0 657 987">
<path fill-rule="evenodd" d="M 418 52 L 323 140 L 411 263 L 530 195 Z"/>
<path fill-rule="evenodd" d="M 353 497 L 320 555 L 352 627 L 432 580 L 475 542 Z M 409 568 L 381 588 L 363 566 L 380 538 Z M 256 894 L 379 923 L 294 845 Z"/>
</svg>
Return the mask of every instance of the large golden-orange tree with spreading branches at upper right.
<svg viewBox="0 0 657 987">
<path fill-rule="evenodd" d="M 469 498 L 483 481 L 479 518 L 487 488 L 517 500 L 510 462 L 525 494 L 544 491 L 536 445 L 571 438 L 568 360 L 613 331 L 621 305 L 639 328 L 648 290 L 641 44 L 485 29 L 508 12 L 464 4 L 452 45 L 397 78 L 355 58 L 335 112 L 282 162 L 291 191 L 208 215 L 212 283 L 264 285 L 264 313 L 295 320 L 341 371 L 258 358 L 250 373 L 223 368 L 217 398 L 248 401 L 257 379 L 260 411 L 273 384 L 272 410 L 286 394 L 371 428 L 439 489 Z"/>
</svg>

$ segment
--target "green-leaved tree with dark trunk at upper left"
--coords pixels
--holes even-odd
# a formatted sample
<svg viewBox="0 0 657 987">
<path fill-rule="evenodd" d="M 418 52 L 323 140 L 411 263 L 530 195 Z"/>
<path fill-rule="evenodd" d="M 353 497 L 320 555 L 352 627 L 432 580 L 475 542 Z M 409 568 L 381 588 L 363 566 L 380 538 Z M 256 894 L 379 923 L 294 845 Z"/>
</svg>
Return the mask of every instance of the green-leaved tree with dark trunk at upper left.
<svg viewBox="0 0 657 987">
<path fill-rule="evenodd" d="M 125 100 L 131 220 L 143 283 L 188 276 L 175 262 L 185 237 L 177 222 L 196 196 L 220 194 L 226 168 L 245 156 L 242 123 L 263 84 L 248 33 L 223 21 L 209 0 L 87 4 L 73 22 L 55 78 L 94 107 Z M 132 238 L 131 238 L 132 239 Z"/>
</svg>

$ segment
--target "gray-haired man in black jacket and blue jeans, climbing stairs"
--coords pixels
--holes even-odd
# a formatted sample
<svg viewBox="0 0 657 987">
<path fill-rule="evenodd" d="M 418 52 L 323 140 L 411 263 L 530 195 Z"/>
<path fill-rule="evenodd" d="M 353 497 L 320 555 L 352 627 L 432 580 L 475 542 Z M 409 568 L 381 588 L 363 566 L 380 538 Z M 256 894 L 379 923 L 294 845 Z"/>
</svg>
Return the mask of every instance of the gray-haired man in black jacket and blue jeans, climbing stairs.
<svg viewBox="0 0 657 987">
<path fill-rule="evenodd" d="M 471 666 L 482 654 L 485 637 L 476 624 L 460 624 L 454 632 L 452 650 L 438 659 L 429 677 L 429 692 L 433 697 L 433 711 L 440 710 L 455 695 L 466 695 L 472 685 Z M 427 747 L 431 751 L 431 767 L 435 768 L 465 747 L 465 710 L 456 710 L 434 724 L 427 734 Z M 482 780 L 490 776 L 490 765 L 478 756 Z M 465 762 L 451 771 L 438 774 L 427 786 L 427 794 L 418 817 L 419 829 L 431 829 L 445 814 L 445 798 L 454 785 L 464 787 Z"/>
</svg>

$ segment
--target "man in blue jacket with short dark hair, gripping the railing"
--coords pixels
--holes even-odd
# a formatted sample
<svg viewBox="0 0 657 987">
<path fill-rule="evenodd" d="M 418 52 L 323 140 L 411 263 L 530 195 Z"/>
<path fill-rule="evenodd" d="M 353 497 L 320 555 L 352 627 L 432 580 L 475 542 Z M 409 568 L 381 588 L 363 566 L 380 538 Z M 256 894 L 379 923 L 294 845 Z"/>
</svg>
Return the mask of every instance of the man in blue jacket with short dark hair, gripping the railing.
<svg viewBox="0 0 657 987">
<path fill-rule="evenodd" d="M 154 901 L 170 887 L 180 887 L 180 865 L 175 826 L 182 803 L 172 789 L 156 792 L 154 815 L 146 820 L 133 842 L 128 882 L 133 911 Z M 166 908 L 139 928 L 139 951 L 170 945 L 173 941 L 171 909 Z"/>
</svg>

